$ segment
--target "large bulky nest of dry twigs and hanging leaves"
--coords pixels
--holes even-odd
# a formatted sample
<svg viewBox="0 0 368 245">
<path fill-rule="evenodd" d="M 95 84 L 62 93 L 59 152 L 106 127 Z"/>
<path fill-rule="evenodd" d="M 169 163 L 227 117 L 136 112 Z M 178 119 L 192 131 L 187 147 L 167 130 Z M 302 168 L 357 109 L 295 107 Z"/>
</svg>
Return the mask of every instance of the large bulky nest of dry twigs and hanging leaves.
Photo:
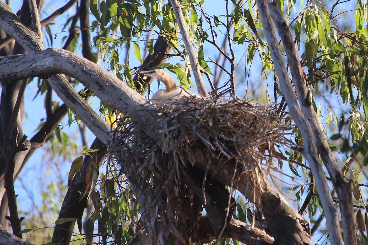
<svg viewBox="0 0 368 245">
<path fill-rule="evenodd" d="M 201 172 L 192 166 L 204 166 L 201 177 L 194 178 L 203 188 L 211 164 L 220 169 L 235 160 L 243 172 L 255 167 L 267 172 L 272 152 L 292 145 L 287 134 L 293 126 L 279 118 L 275 106 L 245 100 L 188 99 L 158 107 L 159 142 L 142 125 L 123 118 L 110 151 L 132 185 L 153 244 L 186 244 L 196 239 L 203 205 L 187 179 Z"/>
</svg>

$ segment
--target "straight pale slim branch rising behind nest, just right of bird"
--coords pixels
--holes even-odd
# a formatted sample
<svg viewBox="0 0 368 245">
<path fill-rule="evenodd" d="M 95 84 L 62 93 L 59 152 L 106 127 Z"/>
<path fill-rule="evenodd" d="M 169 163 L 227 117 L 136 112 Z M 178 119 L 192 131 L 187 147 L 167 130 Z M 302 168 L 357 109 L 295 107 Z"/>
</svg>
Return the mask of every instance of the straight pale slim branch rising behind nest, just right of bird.
<svg viewBox="0 0 368 245">
<path fill-rule="evenodd" d="M 197 55 L 195 55 L 194 53 L 193 42 L 190 40 L 190 36 L 188 34 L 187 26 L 185 25 L 185 20 L 183 17 L 183 12 L 181 11 L 180 4 L 178 0 L 169 0 L 169 2 L 171 3 L 171 6 L 175 12 L 176 21 L 178 22 L 181 36 L 183 37 L 185 47 L 187 48 L 188 51 L 190 65 L 193 71 L 195 84 L 197 85 L 198 94 L 202 96 L 207 96 L 206 87 L 203 83 L 201 72 L 199 71 L 199 64 L 196 58 Z"/>
</svg>

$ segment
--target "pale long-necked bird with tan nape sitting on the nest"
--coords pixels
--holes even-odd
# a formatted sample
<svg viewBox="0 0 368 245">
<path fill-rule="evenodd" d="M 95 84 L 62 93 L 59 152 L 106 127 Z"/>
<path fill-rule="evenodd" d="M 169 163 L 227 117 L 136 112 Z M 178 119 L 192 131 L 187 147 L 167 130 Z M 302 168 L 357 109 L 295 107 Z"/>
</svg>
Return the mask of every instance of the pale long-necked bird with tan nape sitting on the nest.
<svg viewBox="0 0 368 245">
<path fill-rule="evenodd" d="M 149 76 L 151 78 L 156 78 L 159 81 L 165 84 L 166 89 L 160 89 L 155 94 L 153 94 L 151 100 L 162 103 L 162 102 L 169 102 L 173 100 L 177 100 L 181 97 L 191 98 L 202 98 L 202 96 L 198 94 L 192 94 L 189 91 L 178 89 L 173 78 L 169 75 L 169 73 L 162 71 L 160 69 L 154 69 L 151 71 L 140 71 L 139 73 Z"/>
</svg>

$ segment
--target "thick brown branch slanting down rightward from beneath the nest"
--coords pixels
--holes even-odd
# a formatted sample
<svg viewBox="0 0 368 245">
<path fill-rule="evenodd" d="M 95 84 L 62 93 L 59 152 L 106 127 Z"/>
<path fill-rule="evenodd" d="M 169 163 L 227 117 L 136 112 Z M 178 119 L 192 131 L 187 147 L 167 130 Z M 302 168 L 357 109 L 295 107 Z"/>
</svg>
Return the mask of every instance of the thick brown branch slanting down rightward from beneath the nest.
<svg viewBox="0 0 368 245">
<path fill-rule="evenodd" d="M 267 179 L 261 176 L 262 173 L 258 175 L 257 170 L 252 170 L 250 173 L 244 169 L 238 169 L 236 160 L 223 165 L 216 156 L 209 159 L 209 156 L 204 156 L 199 151 L 194 155 L 194 159 L 196 169 L 206 171 L 213 179 L 240 191 L 261 210 L 270 235 L 275 238 L 274 244 L 312 245 L 309 232 L 304 226 L 308 222 L 275 191 Z M 257 168 L 256 161 L 248 160 L 249 165 Z M 233 179 L 229 176 L 233 176 Z"/>
</svg>

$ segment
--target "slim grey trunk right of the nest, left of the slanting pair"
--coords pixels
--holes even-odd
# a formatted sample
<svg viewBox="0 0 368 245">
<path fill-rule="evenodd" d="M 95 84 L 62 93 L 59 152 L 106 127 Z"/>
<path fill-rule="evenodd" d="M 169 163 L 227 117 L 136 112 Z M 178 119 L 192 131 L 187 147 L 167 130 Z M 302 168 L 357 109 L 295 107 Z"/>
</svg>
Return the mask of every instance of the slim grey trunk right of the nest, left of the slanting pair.
<svg viewBox="0 0 368 245">
<path fill-rule="evenodd" d="M 290 79 L 287 75 L 288 73 L 286 70 L 285 62 L 282 57 L 280 46 L 277 42 L 275 30 L 273 29 L 273 24 L 271 22 L 271 17 L 270 17 L 267 3 L 268 1 L 265 1 L 265 0 L 257 1 L 258 11 L 261 15 L 261 21 L 264 27 L 265 37 L 269 45 L 270 52 L 272 54 L 273 63 L 275 64 L 275 70 L 277 73 L 277 77 L 279 78 L 279 81 L 282 87 L 282 91 L 284 93 L 284 97 L 287 101 L 287 104 L 289 105 L 290 115 L 295 120 L 295 123 L 298 126 L 298 129 L 301 131 L 301 134 L 303 137 L 305 158 L 307 158 L 307 161 L 309 165 L 311 166 L 311 170 L 315 178 L 315 183 L 318 189 L 318 193 L 321 196 L 323 210 L 326 213 L 326 220 L 327 220 L 327 226 L 328 226 L 329 233 L 330 233 L 331 243 L 332 244 L 342 244 L 343 242 L 342 242 L 342 236 L 340 234 L 339 214 L 332 202 L 332 197 L 329 193 L 327 180 L 323 174 L 323 169 L 319 162 L 319 157 L 316 151 L 316 141 L 313 137 L 312 127 L 309 124 L 309 120 L 308 120 L 311 118 L 308 117 L 307 119 L 306 115 L 303 115 L 301 109 L 298 107 L 296 96 L 291 87 Z M 281 33 L 279 34 L 281 35 Z M 294 47 L 294 43 L 291 46 Z M 297 61 L 290 60 L 289 64 L 293 62 L 296 62 L 296 64 L 299 64 L 298 60 Z M 308 104 L 308 103 L 311 104 L 310 98 L 307 98 L 306 92 L 304 93 L 304 96 L 303 94 L 300 94 L 299 98 L 304 100 L 304 102 L 301 104 Z M 355 230 L 354 230 L 354 234 L 355 234 Z"/>
</svg>

